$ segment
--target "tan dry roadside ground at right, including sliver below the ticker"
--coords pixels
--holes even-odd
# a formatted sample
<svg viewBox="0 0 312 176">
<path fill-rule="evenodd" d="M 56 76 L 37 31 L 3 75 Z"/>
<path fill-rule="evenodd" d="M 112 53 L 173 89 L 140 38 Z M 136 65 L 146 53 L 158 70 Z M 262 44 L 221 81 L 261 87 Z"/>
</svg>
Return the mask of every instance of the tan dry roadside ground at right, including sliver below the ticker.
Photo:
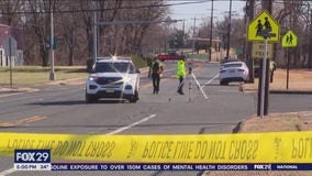
<svg viewBox="0 0 312 176">
<path fill-rule="evenodd" d="M 312 94 L 312 70 L 291 70 L 289 75 L 289 89 L 286 89 L 286 70 L 277 69 L 274 82 L 270 84 L 271 92 L 279 94 Z M 255 84 L 242 85 L 243 91 L 257 91 L 258 79 Z M 312 107 L 312 100 L 311 100 Z M 312 110 L 312 108 L 311 108 Z M 237 130 L 237 131 L 236 131 Z M 312 131 L 312 111 L 269 113 L 264 118 L 252 116 L 239 122 L 235 129 L 237 133 L 263 133 L 285 131 Z M 311 172 L 205 172 L 203 176 L 281 176 L 296 175 L 309 176 Z"/>
</svg>

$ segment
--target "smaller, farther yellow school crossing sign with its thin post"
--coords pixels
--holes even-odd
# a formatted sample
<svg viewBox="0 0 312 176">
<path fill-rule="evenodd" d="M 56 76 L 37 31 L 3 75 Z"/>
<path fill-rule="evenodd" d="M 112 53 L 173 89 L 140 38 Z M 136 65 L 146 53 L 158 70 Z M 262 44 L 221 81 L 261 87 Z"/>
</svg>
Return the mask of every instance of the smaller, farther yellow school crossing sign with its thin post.
<svg viewBox="0 0 312 176">
<path fill-rule="evenodd" d="M 286 89 L 289 88 L 289 65 L 290 65 L 290 58 L 289 58 L 289 47 L 296 47 L 297 46 L 297 35 L 289 30 L 281 40 L 281 46 L 286 47 L 287 50 L 287 78 L 286 78 Z"/>
</svg>

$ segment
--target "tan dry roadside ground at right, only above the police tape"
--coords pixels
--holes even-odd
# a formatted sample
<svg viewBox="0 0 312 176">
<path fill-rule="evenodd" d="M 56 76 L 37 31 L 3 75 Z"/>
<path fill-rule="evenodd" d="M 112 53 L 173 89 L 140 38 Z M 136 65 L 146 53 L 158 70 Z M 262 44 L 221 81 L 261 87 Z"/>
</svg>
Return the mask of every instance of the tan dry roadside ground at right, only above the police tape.
<svg viewBox="0 0 312 176">
<path fill-rule="evenodd" d="M 254 84 L 242 85 L 244 92 L 258 91 L 258 78 Z M 270 94 L 307 94 L 312 95 L 312 69 L 291 69 L 289 72 L 289 87 L 287 89 L 287 70 L 277 69 L 274 82 L 269 87 Z M 312 110 L 312 100 L 311 100 Z M 256 124 L 256 125 L 254 125 Z M 296 124 L 296 125 L 292 125 Z M 291 127 L 292 125 L 292 127 Z M 260 128 L 256 128 L 260 127 Z M 312 111 L 289 113 L 271 113 L 265 119 L 253 116 L 246 118 L 239 127 L 241 132 L 259 131 L 312 131 Z"/>
</svg>

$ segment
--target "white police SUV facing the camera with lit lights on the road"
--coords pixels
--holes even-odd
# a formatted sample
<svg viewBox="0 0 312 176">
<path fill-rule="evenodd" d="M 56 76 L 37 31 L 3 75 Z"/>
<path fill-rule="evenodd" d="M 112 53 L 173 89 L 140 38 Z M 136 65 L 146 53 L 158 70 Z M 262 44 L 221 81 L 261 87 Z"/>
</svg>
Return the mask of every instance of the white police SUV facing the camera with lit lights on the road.
<svg viewBox="0 0 312 176">
<path fill-rule="evenodd" d="M 86 82 L 86 102 L 98 99 L 138 100 L 140 72 L 130 57 L 98 58 Z"/>
</svg>

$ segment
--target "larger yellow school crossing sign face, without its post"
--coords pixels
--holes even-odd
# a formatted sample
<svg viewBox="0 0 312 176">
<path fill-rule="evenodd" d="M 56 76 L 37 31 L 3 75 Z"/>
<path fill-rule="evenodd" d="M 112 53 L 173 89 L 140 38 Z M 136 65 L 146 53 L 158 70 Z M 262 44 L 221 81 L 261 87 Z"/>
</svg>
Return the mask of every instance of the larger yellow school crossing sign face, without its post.
<svg viewBox="0 0 312 176">
<path fill-rule="evenodd" d="M 247 30 L 249 42 L 279 42 L 279 25 L 275 19 L 264 10 L 249 24 Z"/>
</svg>

